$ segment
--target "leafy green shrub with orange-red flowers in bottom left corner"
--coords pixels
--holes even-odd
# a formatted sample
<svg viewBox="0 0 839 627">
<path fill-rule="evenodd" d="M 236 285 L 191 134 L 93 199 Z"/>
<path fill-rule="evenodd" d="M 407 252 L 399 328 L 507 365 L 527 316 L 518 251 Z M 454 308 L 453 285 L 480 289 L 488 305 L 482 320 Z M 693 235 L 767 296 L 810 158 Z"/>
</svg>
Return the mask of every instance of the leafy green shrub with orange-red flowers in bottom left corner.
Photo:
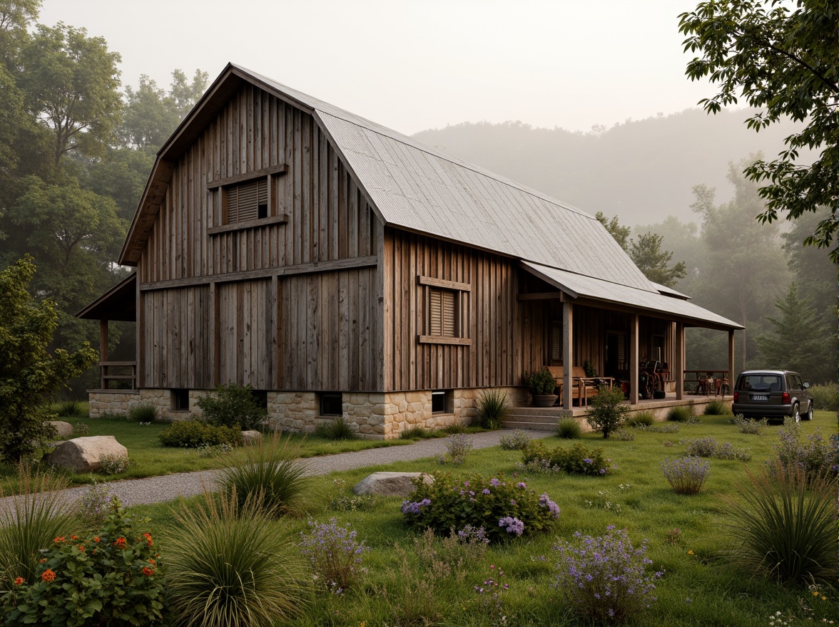
<svg viewBox="0 0 839 627">
<path fill-rule="evenodd" d="M 34 580 L 3 597 L 11 624 L 154 624 L 164 581 L 149 533 L 140 535 L 119 501 L 100 531 L 56 536 Z"/>
</svg>

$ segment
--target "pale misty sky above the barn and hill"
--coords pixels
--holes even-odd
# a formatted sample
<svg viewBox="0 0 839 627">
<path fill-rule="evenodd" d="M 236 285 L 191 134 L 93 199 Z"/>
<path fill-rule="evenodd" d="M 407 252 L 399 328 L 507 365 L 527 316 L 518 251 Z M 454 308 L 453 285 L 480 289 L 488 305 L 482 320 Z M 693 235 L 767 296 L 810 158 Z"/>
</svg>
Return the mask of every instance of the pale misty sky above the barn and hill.
<svg viewBox="0 0 839 627">
<path fill-rule="evenodd" d="M 44 0 L 122 54 L 122 84 L 227 61 L 406 134 L 459 122 L 588 131 L 682 111 L 677 16 L 698 0 Z"/>
</svg>

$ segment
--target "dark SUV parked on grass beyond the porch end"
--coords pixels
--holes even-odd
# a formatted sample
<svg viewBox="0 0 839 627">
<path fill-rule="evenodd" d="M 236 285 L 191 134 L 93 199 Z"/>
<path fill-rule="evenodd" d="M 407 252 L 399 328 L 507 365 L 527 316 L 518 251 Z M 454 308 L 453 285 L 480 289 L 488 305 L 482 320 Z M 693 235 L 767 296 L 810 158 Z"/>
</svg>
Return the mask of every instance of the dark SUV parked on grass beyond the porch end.
<svg viewBox="0 0 839 627">
<path fill-rule="evenodd" d="M 810 383 L 792 371 L 743 371 L 734 386 L 732 412 L 747 418 L 813 419 Z"/>
</svg>

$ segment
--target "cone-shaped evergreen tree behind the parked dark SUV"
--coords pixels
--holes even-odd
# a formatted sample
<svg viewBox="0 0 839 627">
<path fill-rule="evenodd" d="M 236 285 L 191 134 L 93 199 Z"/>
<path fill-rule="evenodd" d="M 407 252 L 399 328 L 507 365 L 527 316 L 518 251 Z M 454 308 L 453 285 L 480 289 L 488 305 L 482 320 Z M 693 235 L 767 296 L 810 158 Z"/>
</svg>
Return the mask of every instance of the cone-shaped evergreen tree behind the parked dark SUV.
<svg viewBox="0 0 839 627">
<path fill-rule="evenodd" d="M 832 341 L 826 341 L 824 324 L 809 300 L 800 300 L 795 281 L 789 284 L 784 298 L 775 301 L 780 317 L 767 316 L 772 325 L 767 333 L 759 334 L 758 358 L 764 368 L 779 368 L 800 372 L 810 381 L 830 381 L 829 354 L 836 345 L 836 332 Z"/>
</svg>

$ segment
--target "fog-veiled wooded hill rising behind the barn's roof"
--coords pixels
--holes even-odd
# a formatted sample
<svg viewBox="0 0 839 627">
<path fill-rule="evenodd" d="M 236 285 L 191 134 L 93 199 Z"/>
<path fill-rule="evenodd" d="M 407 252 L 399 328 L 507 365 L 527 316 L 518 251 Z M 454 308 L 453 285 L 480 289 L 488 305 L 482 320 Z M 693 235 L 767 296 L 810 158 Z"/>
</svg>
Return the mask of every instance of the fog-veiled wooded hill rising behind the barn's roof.
<svg viewBox="0 0 839 627">
<path fill-rule="evenodd" d="M 414 138 L 592 215 L 602 211 L 639 225 L 668 215 L 696 221 L 694 185 L 716 187 L 717 200 L 729 199 L 728 162 L 758 151 L 774 158 L 794 130 L 785 123 L 756 133 L 743 123 L 746 117 L 745 109 L 716 116 L 687 109 L 589 133 L 464 122 Z"/>
</svg>

